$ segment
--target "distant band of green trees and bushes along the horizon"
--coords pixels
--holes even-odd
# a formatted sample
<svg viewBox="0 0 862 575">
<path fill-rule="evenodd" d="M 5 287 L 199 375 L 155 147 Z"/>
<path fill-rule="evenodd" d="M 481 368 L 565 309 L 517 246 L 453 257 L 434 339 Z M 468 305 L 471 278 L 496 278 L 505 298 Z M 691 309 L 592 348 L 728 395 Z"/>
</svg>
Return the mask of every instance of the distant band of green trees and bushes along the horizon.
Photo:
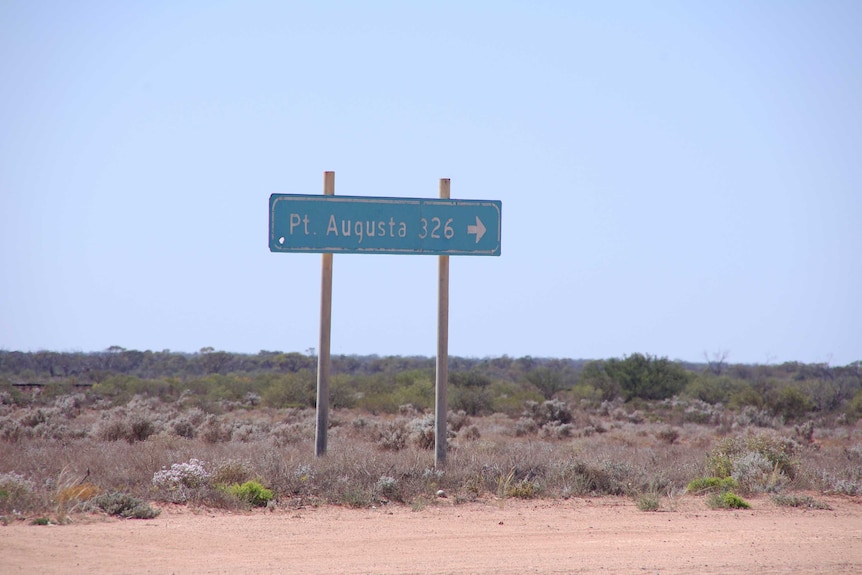
<svg viewBox="0 0 862 575">
<path fill-rule="evenodd" d="M 683 363 L 640 353 L 604 360 L 450 357 L 449 401 L 453 409 L 483 415 L 517 414 L 527 401 L 553 398 L 599 404 L 686 396 L 731 409 L 765 410 L 787 421 L 824 414 L 862 417 L 860 361 L 837 367 L 724 359 Z M 405 404 L 431 409 L 434 363 L 421 356 L 333 356 L 332 405 L 371 412 L 396 412 Z M 21 386 L 42 386 L 50 394 L 88 387 L 89 393 L 117 402 L 136 394 L 164 400 L 185 394 L 209 410 L 225 402 L 309 407 L 315 401 L 316 368 L 312 353 L 281 351 L 0 350 L 0 389 L 12 394 Z"/>
</svg>

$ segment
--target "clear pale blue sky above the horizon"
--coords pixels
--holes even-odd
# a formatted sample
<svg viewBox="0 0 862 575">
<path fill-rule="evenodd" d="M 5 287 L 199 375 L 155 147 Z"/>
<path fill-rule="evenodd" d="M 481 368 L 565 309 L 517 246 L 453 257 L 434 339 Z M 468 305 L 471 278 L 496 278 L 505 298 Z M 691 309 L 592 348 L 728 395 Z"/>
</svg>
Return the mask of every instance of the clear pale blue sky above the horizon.
<svg viewBox="0 0 862 575">
<path fill-rule="evenodd" d="M 305 351 L 271 193 L 503 202 L 450 353 L 862 359 L 862 3 L 0 2 L 0 348 Z M 436 351 L 434 256 L 332 352 Z"/>
</svg>

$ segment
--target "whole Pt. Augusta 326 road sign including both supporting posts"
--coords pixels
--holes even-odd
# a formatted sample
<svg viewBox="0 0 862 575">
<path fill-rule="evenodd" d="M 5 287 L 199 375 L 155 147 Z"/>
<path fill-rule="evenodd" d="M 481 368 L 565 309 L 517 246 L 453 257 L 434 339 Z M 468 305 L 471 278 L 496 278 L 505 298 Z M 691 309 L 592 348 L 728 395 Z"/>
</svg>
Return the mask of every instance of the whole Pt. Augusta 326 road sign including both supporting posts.
<svg viewBox="0 0 862 575">
<path fill-rule="evenodd" d="M 336 196 L 335 173 L 324 173 L 324 195 L 272 194 L 269 249 L 322 253 L 320 349 L 317 364 L 315 453 L 326 453 L 329 414 L 332 255 L 439 256 L 435 463 L 446 462 L 446 383 L 449 369 L 449 256 L 499 256 L 502 203 L 452 200 L 449 180 L 440 199 Z"/>
</svg>

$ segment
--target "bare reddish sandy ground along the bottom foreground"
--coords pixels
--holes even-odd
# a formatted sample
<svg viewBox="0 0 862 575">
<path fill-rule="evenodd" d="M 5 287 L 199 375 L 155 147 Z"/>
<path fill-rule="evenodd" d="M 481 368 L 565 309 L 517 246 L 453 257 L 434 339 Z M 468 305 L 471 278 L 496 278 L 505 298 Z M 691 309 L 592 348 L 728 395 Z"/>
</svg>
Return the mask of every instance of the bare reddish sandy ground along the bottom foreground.
<svg viewBox="0 0 862 575">
<path fill-rule="evenodd" d="M 486 501 L 229 514 L 168 507 L 153 520 L 78 516 L 0 527 L 0 573 L 862 573 L 862 499 L 832 510 L 708 509 L 685 497 Z"/>
</svg>

